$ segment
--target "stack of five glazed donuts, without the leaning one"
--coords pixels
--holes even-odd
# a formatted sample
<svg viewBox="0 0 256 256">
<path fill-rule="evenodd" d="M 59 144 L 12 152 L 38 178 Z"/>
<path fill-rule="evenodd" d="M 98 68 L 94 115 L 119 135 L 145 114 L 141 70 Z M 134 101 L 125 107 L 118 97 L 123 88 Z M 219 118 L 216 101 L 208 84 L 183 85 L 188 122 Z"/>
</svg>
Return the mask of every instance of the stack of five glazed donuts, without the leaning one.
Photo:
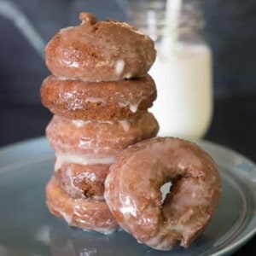
<svg viewBox="0 0 256 256">
<path fill-rule="evenodd" d="M 159 129 L 148 108 L 156 98 L 147 74 L 153 41 L 125 22 L 98 22 L 81 13 L 81 25 L 49 41 L 52 73 L 41 87 L 54 113 L 46 135 L 55 149 L 55 172 L 46 187 L 49 211 L 85 230 L 118 228 L 103 194 L 109 166 L 119 151 Z"/>
</svg>

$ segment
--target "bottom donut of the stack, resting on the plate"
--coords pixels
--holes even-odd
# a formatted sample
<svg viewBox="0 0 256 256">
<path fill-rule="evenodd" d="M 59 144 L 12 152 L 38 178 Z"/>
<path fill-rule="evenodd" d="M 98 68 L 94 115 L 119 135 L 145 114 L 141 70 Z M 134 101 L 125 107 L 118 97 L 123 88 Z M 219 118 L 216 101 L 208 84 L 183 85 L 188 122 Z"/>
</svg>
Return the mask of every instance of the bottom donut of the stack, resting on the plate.
<svg viewBox="0 0 256 256">
<path fill-rule="evenodd" d="M 49 212 L 64 218 L 70 226 L 106 234 L 118 229 L 105 201 L 73 199 L 63 192 L 55 177 L 46 185 L 46 204 Z"/>
</svg>

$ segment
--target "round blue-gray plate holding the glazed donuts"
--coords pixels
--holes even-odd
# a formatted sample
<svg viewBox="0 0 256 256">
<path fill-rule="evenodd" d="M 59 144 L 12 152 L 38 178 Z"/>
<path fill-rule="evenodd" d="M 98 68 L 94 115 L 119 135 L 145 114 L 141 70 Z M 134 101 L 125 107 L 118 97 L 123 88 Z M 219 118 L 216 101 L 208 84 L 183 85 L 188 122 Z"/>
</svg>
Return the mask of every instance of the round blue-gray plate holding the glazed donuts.
<svg viewBox="0 0 256 256">
<path fill-rule="evenodd" d="M 172 256 L 228 255 L 256 233 L 256 167 L 245 157 L 213 143 L 202 148 L 218 163 L 223 195 L 207 230 Z M 105 236 L 70 228 L 49 214 L 44 186 L 53 170 L 53 151 L 45 138 L 0 150 L 0 255 L 169 255 L 119 231 Z"/>
</svg>

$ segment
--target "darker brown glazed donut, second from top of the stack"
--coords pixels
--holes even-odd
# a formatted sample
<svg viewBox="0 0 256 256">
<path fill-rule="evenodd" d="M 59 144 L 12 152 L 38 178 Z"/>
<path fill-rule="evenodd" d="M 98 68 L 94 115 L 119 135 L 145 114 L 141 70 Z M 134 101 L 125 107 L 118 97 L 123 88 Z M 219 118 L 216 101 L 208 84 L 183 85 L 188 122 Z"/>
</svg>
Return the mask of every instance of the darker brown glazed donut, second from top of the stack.
<svg viewBox="0 0 256 256">
<path fill-rule="evenodd" d="M 149 75 L 100 83 L 61 80 L 51 75 L 41 86 L 44 106 L 71 119 L 127 119 L 146 111 L 155 98 L 154 80 Z"/>
</svg>

